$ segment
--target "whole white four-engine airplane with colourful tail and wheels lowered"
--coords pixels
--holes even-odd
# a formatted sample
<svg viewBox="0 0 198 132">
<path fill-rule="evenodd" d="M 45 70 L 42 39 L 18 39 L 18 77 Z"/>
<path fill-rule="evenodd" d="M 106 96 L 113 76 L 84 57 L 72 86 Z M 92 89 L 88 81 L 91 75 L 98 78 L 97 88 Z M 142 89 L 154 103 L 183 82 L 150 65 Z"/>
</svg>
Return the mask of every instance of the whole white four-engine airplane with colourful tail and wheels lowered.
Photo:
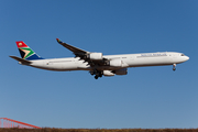
<svg viewBox="0 0 198 132">
<path fill-rule="evenodd" d="M 19 64 L 41 69 L 56 72 L 88 70 L 90 75 L 95 76 L 95 79 L 102 76 L 127 75 L 129 67 L 173 65 L 173 70 L 176 70 L 177 64 L 189 59 L 185 54 L 177 52 L 103 55 L 102 53 L 80 50 L 62 42 L 59 38 L 56 38 L 56 41 L 72 51 L 75 57 L 44 59 L 23 41 L 15 42 L 21 58 L 16 56 L 10 57 L 18 61 Z"/>
</svg>

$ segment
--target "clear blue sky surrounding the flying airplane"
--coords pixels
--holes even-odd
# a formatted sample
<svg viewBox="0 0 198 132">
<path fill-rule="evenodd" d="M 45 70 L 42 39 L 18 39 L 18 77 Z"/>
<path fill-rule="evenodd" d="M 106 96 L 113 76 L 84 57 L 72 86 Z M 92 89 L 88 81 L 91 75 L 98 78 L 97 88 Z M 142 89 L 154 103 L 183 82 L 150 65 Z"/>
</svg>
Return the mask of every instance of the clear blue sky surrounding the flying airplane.
<svg viewBox="0 0 198 132">
<path fill-rule="evenodd" d="M 38 127 L 198 128 L 197 0 L 1 0 L 0 117 Z M 88 72 L 19 65 L 15 41 L 40 56 L 74 56 L 56 37 L 90 52 L 180 52 L 172 66 L 129 68 L 95 80 Z"/>
</svg>

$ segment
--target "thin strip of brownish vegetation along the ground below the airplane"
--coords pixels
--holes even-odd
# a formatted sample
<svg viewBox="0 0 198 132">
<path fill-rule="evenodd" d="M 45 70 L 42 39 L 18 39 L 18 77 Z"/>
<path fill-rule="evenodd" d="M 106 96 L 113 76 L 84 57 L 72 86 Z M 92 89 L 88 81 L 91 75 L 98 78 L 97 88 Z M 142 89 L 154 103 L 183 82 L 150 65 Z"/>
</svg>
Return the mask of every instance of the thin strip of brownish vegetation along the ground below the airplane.
<svg viewBox="0 0 198 132">
<path fill-rule="evenodd" d="M 198 132 L 198 129 L 2 129 L 0 132 Z"/>
</svg>

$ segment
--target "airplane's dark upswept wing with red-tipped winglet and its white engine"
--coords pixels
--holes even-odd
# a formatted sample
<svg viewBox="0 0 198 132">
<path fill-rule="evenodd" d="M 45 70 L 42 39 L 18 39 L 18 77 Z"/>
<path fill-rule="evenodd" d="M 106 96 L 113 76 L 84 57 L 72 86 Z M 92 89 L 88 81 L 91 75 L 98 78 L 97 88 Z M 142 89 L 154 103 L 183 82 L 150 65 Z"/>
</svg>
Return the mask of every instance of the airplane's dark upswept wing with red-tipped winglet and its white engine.
<svg viewBox="0 0 198 132">
<path fill-rule="evenodd" d="M 90 66 L 107 65 L 108 59 L 102 56 L 102 53 L 90 53 L 64 43 L 59 38 L 56 38 L 56 41 L 67 50 L 72 51 L 76 55 L 76 57 L 80 57 L 80 59 L 87 62 Z"/>
</svg>

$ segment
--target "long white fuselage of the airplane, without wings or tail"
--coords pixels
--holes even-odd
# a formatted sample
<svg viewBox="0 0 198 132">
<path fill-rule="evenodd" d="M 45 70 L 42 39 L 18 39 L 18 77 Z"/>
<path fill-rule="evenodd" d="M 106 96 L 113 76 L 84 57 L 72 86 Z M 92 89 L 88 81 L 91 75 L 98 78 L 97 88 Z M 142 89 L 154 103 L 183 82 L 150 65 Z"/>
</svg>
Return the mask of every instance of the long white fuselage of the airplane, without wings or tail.
<svg viewBox="0 0 198 132">
<path fill-rule="evenodd" d="M 48 69 L 48 70 L 116 70 L 128 67 L 142 66 L 163 66 L 184 63 L 189 59 L 182 53 L 176 52 L 158 52 L 158 53 L 142 53 L 142 54 L 123 54 L 123 55 L 105 55 L 105 58 L 110 61 L 121 61 L 122 66 L 95 66 L 90 67 L 87 62 L 79 59 L 79 57 L 69 58 L 53 58 L 53 59 L 36 59 L 31 61 L 29 66 Z"/>
</svg>

